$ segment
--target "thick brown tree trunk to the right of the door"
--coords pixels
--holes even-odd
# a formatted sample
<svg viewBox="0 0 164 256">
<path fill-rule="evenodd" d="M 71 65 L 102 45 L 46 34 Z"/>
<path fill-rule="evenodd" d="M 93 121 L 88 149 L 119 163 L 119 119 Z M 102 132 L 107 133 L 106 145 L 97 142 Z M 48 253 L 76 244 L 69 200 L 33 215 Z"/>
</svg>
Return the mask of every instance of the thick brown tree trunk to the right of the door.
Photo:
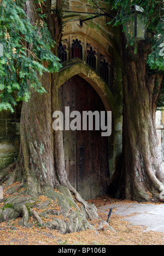
<svg viewBox="0 0 164 256">
<path fill-rule="evenodd" d="M 133 47 L 125 47 L 121 35 L 124 121 L 122 168 L 115 176 L 116 187 L 119 187 L 116 196 L 138 201 L 160 199 L 153 195 L 164 191 L 164 170 L 155 125 L 163 76 L 148 69 L 149 49 L 145 41 L 139 41 L 134 54 Z"/>
</svg>

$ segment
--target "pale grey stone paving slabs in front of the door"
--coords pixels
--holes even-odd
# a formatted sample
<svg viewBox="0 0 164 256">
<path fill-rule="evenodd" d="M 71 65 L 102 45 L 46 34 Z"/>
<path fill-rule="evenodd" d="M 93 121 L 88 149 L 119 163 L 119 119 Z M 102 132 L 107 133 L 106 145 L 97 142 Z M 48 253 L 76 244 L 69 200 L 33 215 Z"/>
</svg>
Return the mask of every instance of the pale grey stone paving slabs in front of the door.
<svg viewBox="0 0 164 256">
<path fill-rule="evenodd" d="M 130 221 L 132 225 L 145 226 L 144 231 L 153 230 L 164 233 L 164 204 L 111 204 L 100 207 L 99 210 L 108 213 L 108 209 L 113 208 L 112 214 L 127 216 L 136 214 L 124 220 Z M 114 209 L 116 208 L 116 209 Z"/>
</svg>

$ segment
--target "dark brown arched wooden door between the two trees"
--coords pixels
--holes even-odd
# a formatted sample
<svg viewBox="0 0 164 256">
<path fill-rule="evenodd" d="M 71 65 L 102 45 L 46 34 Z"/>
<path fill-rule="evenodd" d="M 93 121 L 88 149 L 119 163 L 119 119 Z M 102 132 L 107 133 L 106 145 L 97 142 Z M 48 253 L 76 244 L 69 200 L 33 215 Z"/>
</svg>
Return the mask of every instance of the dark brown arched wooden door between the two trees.
<svg viewBox="0 0 164 256">
<path fill-rule="evenodd" d="M 61 110 L 105 111 L 92 86 L 78 75 L 71 77 L 59 89 Z M 71 121 L 72 119 L 70 119 Z M 95 123 L 93 121 L 93 123 Z M 107 192 L 108 137 L 97 131 L 63 131 L 63 146 L 68 180 L 84 199 L 95 198 Z"/>
</svg>

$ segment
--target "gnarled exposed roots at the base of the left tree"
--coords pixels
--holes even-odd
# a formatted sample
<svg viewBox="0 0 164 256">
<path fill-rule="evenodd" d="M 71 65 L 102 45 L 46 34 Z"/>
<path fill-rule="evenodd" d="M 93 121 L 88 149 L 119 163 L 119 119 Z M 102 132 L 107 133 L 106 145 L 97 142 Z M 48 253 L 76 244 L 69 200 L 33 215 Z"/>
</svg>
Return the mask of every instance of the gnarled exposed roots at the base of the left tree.
<svg viewBox="0 0 164 256">
<path fill-rule="evenodd" d="M 104 226 L 111 229 L 106 221 L 104 223 L 99 218 L 95 205 L 81 198 L 69 182 L 65 186 L 57 185 L 55 189 L 44 186 L 42 193 L 34 198 L 29 191 L 27 193 L 28 186 L 22 172 L 15 169 L 9 174 L 10 170 L 11 166 L 8 166 L 6 176 L 2 178 L 5 182 L 2 184 L 4 199 L 0 201 L 0 222 L 21 217 L 17 222 L 19 225 L 31 227 L 33 222 L 37 222 L 39 226 L 56 229 L 63 234 L 86 229 L 97 232 Z M 89 222 L 92 219 L 101 220 L 97 230 Z"/>
</svg>

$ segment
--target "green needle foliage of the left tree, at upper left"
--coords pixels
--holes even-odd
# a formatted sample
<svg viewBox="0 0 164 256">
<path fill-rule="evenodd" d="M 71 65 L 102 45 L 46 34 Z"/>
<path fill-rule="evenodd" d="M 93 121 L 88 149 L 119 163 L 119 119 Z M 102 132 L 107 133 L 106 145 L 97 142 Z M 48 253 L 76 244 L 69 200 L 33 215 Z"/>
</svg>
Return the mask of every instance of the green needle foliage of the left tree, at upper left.
<svg viewBox="0 0 164 256">
<path fill-rule="evenodd" d="M 28 101 L 31 88 L 45 93 L 39 77 L 60 69 L 44 15 L 38 17 L 32 26 L 20 0 L 0 0 L 0 111 L 13 112 L 18 101 Z"/>
</svg>

